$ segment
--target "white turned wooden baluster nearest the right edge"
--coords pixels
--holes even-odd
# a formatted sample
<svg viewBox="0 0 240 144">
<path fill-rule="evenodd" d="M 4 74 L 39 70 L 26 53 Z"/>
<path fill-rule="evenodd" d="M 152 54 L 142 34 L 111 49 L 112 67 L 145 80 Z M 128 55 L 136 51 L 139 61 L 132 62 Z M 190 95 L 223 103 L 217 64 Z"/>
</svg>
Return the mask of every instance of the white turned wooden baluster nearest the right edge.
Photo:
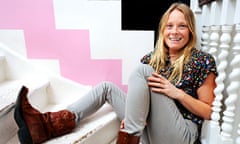
<svg viewBox="0 0 240 144">
<path fill-rule="evenodd" d="M 223 144 L 233 143 L 232 130 L 235 119 L 236 102 L 239 96 L 240 88 L 240 24 L 236 25 L 236 34 L 233 39 L 232 60 L 229 74 L 229 86 L 227 87 L 228 98 L 225 100 L 226 110 L 224 111 L 221 138 Z M 238 130 L 239 131 L 239 130 Z M 238 132 L 240 135 L 240 133 Z M 236 139 L 236 143 L 240 144 L 240 136 Z"/>
</svg>

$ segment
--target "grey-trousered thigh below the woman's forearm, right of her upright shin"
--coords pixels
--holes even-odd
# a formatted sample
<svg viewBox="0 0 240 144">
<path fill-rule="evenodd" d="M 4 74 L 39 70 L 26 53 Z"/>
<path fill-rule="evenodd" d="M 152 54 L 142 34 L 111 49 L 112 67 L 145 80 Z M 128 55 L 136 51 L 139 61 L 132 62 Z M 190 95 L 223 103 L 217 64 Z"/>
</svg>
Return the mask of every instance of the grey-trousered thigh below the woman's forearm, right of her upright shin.
<svg viewBox="0 0 240 144">
<path fill-rule="evenodd" d="M 197 125 L 182 117 L 172 99 L 154 92 L 147 129 L 151 144 L 193 144 L 198 135 Z"/>
</svg>

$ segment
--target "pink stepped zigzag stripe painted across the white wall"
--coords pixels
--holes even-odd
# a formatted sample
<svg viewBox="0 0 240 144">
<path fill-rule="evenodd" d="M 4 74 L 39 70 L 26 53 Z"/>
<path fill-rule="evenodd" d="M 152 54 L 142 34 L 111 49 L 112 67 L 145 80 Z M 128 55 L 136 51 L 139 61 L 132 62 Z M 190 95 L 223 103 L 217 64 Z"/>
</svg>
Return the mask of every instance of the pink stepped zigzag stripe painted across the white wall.
<svg viewBox="0 0 240 144">
<path fill-rule="evenodd" d="M 0 29 L 23 29 L 29 58 L 59 59 L 61 74 L 82 84 L 121 83 L 121 60 L 92 60 L 88 30 L 56 30 L 50 0 L 0 2 Z"/>
</svg>

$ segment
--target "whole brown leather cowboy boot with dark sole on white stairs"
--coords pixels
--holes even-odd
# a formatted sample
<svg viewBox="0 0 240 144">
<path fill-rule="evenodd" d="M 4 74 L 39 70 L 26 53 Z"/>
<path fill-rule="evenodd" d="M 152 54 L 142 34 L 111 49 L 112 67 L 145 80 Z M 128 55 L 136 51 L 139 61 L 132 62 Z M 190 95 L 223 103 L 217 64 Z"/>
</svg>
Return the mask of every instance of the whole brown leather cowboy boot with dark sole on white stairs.
<svg viewBox="0 0 240 144">
<path fill-rule="evenodd" d="M 28 88 L 23 86 L 16 101 L 14 119 L 19 127 L 21 144 L 39 144 L 71 132 L 75 115 L 67 110 L 41 113 L 29 104 Z"/>
</svg>

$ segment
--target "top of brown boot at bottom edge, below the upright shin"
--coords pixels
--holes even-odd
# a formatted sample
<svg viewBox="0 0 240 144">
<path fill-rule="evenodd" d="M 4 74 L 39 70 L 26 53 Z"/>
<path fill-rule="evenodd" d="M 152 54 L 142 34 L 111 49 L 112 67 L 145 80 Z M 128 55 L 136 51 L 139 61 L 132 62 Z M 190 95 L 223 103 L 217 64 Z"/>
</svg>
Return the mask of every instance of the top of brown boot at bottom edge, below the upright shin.
<svg viewBox="0 0 240 144">
<path fill-rule="evenodd" d="M 119 131 L 117 144 L 139 144 L 140 136 L 134 136 L 127 132 Z"/>
</svg>

